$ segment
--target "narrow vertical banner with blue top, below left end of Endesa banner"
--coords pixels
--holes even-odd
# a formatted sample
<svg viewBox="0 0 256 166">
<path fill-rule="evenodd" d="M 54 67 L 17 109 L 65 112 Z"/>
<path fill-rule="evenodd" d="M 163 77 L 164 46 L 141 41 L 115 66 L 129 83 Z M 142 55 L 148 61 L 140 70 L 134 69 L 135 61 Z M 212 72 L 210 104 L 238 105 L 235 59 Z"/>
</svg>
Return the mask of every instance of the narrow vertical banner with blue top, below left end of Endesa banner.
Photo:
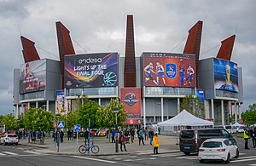
<svg viewBox="0 0 256 166">
<path fill-rule="evenodd" d="M 56 90 L 55 115 L 66 115 L 64 90 Z"/>
</svg>

